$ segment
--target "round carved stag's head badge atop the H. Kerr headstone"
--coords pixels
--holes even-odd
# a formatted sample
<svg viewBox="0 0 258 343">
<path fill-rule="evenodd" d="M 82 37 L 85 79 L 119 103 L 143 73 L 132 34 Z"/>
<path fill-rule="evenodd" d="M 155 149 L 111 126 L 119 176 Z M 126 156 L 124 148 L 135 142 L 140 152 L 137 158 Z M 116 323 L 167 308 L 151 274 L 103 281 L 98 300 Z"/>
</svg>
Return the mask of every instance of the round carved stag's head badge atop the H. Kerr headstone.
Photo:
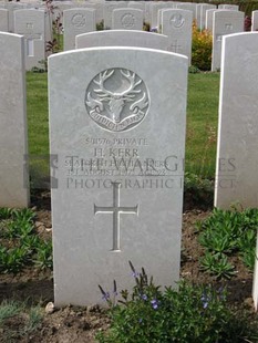
<svg viewBox="0 0 258 343">
<path fill-rule="evenodd" d="M 112 132 L 130 129 L 140 124 L 149 107 L 143 80 L 125 69 L 109 69 L 89 84 L 85 106 L 90 117 Z"/>
</svg>

